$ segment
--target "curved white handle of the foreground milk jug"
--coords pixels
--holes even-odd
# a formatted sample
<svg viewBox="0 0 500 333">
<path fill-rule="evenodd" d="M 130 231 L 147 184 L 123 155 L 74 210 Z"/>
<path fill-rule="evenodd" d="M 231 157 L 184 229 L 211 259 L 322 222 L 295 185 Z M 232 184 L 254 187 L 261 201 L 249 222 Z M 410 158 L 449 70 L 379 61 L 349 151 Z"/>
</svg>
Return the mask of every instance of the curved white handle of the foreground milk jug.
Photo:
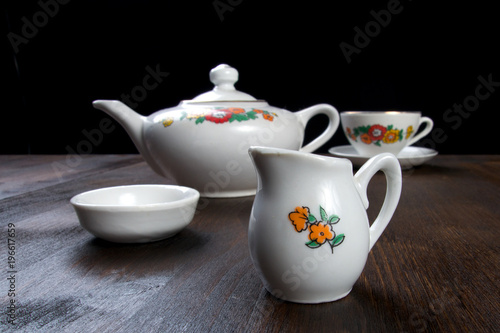
<svg viewBox="0 0 500 333">
<path fill-rule="evenodd" d="M 370 158 L 354 175 L 354 183 L 365 209 L 368 209 L 369 205 L 367 196 L 368 183 L 377 171 L 382 171 L 385 174 L 387 190 L 382 208 L 370 227 L 370 250 L 382 235 L 398 206 L 402 185 L 401 166 L 393 154 L 383 153 Z"/>
</svg>

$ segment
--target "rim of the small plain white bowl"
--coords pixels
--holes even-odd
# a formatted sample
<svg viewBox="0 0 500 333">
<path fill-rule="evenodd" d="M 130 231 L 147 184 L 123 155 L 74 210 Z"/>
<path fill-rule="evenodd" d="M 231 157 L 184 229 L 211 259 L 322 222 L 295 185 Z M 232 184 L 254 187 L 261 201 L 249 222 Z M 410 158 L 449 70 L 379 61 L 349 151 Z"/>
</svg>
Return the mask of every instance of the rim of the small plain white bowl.
<svg viewBox="0 0 500 333">
<path fill-rule="evenodd" d="M 118 204 L 100 204 L 100 203 L 86 203 L 79 202 L 78 200 L 92 193 L 112 190 L 112 189 L 134 189 L 134 188 L 163 188 L 165 190 L 180 190 L 184 193 L 184 197 L 178 200 L 156 202 L 156 203 L 146 203 L 146 204 L 131 204 L 131 205 L 118 205 Z M 97 188 L 94 190 L 85 191 L 73 196 L 70 199 L 70 203 L 77 208 L 87 208 L 87 209 L 114 209 L 114 210 L 137 210 L 137 209 L 168 209 L 168 208 L 178 208 L 183 206 L 188 206 L 196 203 L 200 197 L 200 193 L 191 187 L 180 186 L 180 185 L 167 185 L 167 184 L 133 184 L 133 185 L 118 185 Z"/>
</svg>

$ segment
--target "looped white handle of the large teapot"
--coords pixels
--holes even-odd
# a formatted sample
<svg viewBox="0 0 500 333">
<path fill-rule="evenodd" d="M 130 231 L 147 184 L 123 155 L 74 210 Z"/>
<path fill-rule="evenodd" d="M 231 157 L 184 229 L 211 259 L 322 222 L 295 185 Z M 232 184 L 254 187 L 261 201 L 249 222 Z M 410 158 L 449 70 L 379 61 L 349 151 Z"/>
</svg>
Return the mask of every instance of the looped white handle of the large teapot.
<svg viewBox="0 0 500 333">
<path fill-rule="evenodd" d="M 335 134 L 335 131 L 339 127 L 339 112 L 329 104 L 314 105 L 307 109 L 298 111 L 295 114 L 304 129 L 306 128 L 307 122 L 317 114 L 326 114 L 329 119 L 328 127 L 323 131 L 323 133 L 321 133 L 316 139 L 299 149 L 299 151 L 305 153 L 311 153 L 325 144 L 328 140 L 330 140 L 333 134 Z"/>
</svg>

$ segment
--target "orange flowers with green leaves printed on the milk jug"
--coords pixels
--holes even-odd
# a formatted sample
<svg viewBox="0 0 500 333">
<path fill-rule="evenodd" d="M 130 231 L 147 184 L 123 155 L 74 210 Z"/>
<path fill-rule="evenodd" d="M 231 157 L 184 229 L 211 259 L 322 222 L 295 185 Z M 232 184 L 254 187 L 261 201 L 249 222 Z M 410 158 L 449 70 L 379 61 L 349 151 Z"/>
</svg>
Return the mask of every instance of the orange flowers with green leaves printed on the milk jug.
<svg viewBox="0 0 500 333">
<path fill-rule="evenodd" d="M 339 246 L 344 242 L 345 235 L 337 235 L 333 230 L 333 225 L 339 223 L 340 217 L 333 214 L 328 216 L 325 209 L 319 206 L 321 220 L 311 214 L 309 207 L 298 206 L 295 211 L 288 214 L 288 219 L 292 222 L 295 231 L 309 231 L 306 244 L 307 247 L 315 249 L 323 246 L 324 244 L 330 245 L 333 253 L 333 248 Z"/>
</svg>

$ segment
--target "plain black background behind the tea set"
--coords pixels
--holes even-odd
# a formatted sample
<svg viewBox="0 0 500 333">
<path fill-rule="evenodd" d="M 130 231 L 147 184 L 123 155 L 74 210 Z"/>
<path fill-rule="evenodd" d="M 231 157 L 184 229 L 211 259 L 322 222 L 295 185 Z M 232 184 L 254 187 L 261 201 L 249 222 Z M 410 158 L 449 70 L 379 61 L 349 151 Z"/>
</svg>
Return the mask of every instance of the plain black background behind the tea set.
<svg viewBox="0 0 500 333">
<path fill-rule="evenodd" d="M 208 73 L 220 63 L 238 69 L 238 90 L 273 106 L 420 110 L 441 133 L 421 145 L 445 154 L 500 152 L 500 87 L 474 111 L 444 119 L 455 104 L 474 100 L 478 77 L 500 85 L 494 2 L 401 0 L 350 63 L 339 45 L 355 46 L 355 27 L 374 27 L 373 13 L 395 0 L 61 2 L 4 2 L 1 154 L 74 151 L 85 140 L 82 131 L 108 117 L 91 102 L 130 94 L 146 67 L 169 75 L 138 103 L 143 115 L 212 89 Z M 38 27 L 29 30 L 26 22 Z M 324 122 L 314 118 L 306 140 Z M 339 127 L 319 152 L 343 144 Z M 90 152 L 137 150 L 117 125 Z"/>
</svg>

